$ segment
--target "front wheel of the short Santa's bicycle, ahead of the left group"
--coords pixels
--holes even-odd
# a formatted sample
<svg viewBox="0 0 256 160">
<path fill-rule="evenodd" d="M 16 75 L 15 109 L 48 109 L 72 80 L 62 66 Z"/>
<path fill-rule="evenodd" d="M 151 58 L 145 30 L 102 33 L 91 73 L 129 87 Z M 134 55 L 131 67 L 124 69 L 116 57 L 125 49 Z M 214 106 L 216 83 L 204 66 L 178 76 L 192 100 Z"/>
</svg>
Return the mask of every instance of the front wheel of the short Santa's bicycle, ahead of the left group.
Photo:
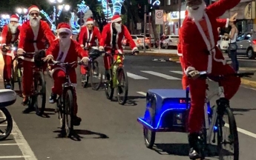
<svg viewBox="0 0 256 160">
<path fill-rule="evenodd" d="M 64 99 L 64 115 L 62 118 L 64 119 L 65 128 L 65 133 L 66 136 L 70 137 L 71 133 L 73 131 L 73 122 L 72 122 L 72 117 L 73 117 L 73 91 L 71 89 L 68 89 L 65 92 L 65 99 Z"/>
</svg>

